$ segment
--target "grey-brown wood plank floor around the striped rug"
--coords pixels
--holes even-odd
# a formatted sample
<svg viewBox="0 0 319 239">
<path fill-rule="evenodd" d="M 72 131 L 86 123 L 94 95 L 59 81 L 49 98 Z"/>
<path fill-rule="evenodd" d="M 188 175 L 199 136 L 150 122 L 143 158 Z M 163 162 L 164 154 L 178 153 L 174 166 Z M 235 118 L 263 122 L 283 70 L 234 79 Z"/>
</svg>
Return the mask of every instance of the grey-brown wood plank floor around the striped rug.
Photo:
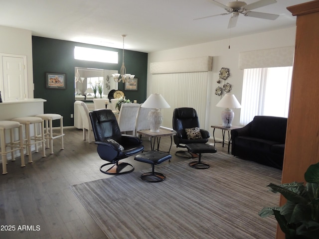
<svg viewBox="0 0 319 239">
<path fill-rule="evenodd" d="M 23 168 L 19 158 L 9 161 L 8 173 L 0 175 L 1 239 L 107 239 L 69 189 L 74 184 L 110 177 L 99 170 L 105 161 L 99 158 L 94 141 L 83 140 L 82 130 L 64 131 L 64 150 L 60 150 L 60 139 L 55 139 L 54 154 L 46 149 L 46 157 L 42 158 L 33 152 L 33 163 Z M 143 144 L 145 150 L 150 150 L 148 138 L 143 138 Z M 160 150 L 167 151 L 169 144 L 170 138 L 162 137 Z M 216 148 L 227 153 L 227 145 L 216 143 Z M 171 162 L 162 164 L 185 160 L 174 155 L 177 150 L 181 148 L 173 143 Z M 134 156 L 123 161 L 133 164 L 135 171 L 151 167 L 135 161 Z M 14 226 L 15 231 L 7 231 L 6 226 Z M 22 226 L 28 226 L 27 230 Z"/>
</svg>

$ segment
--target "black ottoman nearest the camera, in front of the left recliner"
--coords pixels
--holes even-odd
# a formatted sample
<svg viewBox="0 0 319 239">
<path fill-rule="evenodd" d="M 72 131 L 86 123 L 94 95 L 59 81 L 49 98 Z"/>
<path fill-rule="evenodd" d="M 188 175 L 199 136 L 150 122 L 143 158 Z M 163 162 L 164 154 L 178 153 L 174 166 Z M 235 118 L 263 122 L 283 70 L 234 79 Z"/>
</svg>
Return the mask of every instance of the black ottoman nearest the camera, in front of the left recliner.
<svg viewBox="0 0 319 239">
<path fill-rule="evenodd" d="M 149 151 L 136 155 L 134 159 L 140 162 L 152 164 L 152 172 L 143 173 L 141 178 L 146 182 L 156 183 L 165 180 L 166 177 L 162 173 L 154 172 L 154 166 L 170 158 L 171 155 L 169 153 Z"/>
</svg>

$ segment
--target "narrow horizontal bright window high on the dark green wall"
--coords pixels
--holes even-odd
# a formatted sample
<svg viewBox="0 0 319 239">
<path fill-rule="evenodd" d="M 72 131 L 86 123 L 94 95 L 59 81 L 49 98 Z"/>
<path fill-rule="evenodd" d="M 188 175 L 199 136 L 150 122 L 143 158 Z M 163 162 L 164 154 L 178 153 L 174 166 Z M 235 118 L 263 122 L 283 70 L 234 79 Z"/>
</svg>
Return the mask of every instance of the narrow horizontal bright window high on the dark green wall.
<svg viewBox="0 0 319 239">
<path fill-rule="evenodd" d="M 76 46 L 74 47 L 74 59 L 106 63 L 118 63 L 119 54 L 115 51 L 106 51 Z"/>
</svg>

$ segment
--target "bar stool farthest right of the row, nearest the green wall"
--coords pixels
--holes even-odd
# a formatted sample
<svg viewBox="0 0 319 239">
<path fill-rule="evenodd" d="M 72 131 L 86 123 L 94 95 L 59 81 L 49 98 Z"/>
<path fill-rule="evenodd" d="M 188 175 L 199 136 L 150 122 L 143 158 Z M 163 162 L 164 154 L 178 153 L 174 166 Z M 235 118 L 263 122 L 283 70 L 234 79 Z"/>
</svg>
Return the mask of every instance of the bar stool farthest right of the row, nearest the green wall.
<svg viewBox="0 0 319 239">
<path fill-rule="evenodd" d="M 46 142 L 46 147 L 51 148 L 50 154 L 53 154 L 53 139 L 61 137 L 61 149 L 64 149 L 63 136 L 63 117 L 59 114 L 42 114 L 36 115 L 35 117 L 39 117 L 44 120 L 45 124 L 45 139 L 48 139 Z M 52 121 L 60 119 L 60 132 L 53 133 L 53 124 Z"/>
</svg>

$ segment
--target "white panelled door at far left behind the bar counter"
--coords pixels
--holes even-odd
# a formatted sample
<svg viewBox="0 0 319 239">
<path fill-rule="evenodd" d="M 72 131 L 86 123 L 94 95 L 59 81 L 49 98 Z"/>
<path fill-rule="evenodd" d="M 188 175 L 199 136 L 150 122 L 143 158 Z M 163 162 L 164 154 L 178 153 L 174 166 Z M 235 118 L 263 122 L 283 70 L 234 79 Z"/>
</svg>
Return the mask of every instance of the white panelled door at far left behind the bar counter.
<svg viewBox="0 0 319 239">
<path fill-rule="evenodd" d="M 23 100 L 27 97 L 26 57 L 2 55 L 2 101 Z"/>
</svg>

